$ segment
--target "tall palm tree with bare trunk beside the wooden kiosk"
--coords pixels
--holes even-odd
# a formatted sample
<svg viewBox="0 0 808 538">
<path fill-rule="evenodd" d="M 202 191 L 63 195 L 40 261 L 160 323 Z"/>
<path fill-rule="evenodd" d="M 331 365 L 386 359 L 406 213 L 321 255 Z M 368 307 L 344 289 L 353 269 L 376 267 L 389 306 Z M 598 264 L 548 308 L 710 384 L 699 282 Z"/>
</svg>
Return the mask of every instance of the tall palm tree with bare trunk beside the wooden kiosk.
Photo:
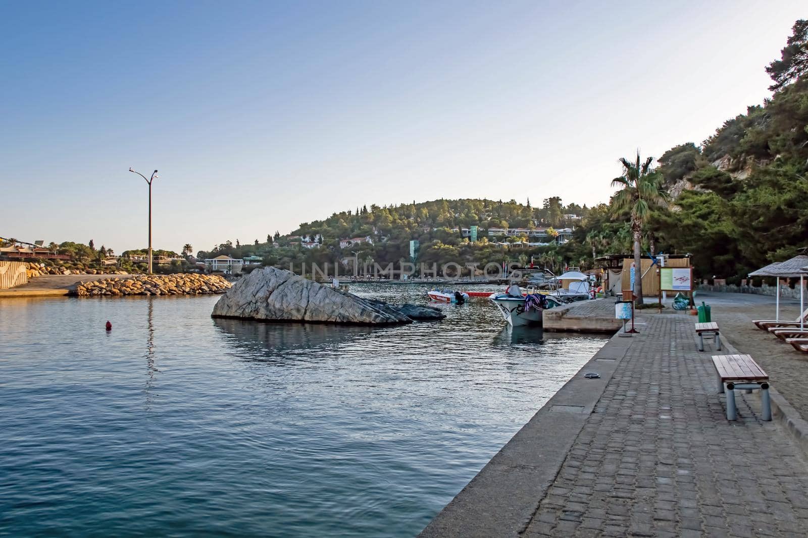
<svg viewBox="0 0 808 538">
<path fill-rule="evenodd" d="M 620 160 L 623 165 L 623 175 L 612 180 L 612 186 L 621 186 L 612 196 L 612 214 L 620 215 L 624 211 L 631 211 L 631 232 L 634 239 L 634 301 L 642 304 L 642 270 L 640 265 L 640 242 L 642 241 L 642 226 L 648 220 L 651 208 L 663 206 L 670 196 L 662 186 L 662 176 L 654 172 L 651 162 L 654 157 L 641 161 L 640 152 L 637 152 L 637 161 L 631 162 L 625 157 Z"/>
</svg>

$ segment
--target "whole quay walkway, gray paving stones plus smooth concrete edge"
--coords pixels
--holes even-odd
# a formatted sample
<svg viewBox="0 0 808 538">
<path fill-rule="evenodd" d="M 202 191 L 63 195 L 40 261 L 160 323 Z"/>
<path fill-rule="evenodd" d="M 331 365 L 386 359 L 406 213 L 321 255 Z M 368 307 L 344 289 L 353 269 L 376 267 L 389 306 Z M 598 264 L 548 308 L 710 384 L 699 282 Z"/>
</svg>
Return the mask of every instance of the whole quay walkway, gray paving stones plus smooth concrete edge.
<svg viewBox="0 0 808 538">
<path fill-rule="evenodd" d="M 808 464 L 783 423 L 742 390 L 726 420 L 692 316 L 641 330 L 609 340 L 422 536 L 805 536 Z"/>
</svg>

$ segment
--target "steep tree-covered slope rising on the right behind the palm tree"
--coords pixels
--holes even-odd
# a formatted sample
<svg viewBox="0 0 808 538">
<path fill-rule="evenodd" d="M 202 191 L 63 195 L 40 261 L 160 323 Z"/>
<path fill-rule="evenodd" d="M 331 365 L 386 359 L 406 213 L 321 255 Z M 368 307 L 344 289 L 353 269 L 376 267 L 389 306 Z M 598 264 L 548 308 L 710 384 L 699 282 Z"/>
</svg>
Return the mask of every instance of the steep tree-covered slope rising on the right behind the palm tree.
<svg viewBox="0 0 808 538">
<path fill-rule="evenodd" d="M 749 106 L 701 146 L 659 157 L 675 199 L 650 233 L 692 252 L 706 277 L 742 277 L 808 247 L 808 21 L 794 25 L 782 59 L 766 69 L 771 98 Z"/>
</svg>

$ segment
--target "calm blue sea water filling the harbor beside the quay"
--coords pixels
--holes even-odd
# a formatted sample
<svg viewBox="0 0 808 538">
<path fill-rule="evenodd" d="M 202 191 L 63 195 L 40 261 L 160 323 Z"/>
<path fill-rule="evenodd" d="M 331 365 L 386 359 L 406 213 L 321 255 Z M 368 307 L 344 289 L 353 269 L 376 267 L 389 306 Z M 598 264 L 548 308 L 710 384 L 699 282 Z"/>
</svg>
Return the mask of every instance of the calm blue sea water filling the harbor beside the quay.
<svg viewBox="0 0 808 538">
<path fill-rule="evenodd" d="M 486 299 L 389 328 L 216 301 L 0 300 L 0 535 L 413 536 L 605 343 Z"/>
</svg>

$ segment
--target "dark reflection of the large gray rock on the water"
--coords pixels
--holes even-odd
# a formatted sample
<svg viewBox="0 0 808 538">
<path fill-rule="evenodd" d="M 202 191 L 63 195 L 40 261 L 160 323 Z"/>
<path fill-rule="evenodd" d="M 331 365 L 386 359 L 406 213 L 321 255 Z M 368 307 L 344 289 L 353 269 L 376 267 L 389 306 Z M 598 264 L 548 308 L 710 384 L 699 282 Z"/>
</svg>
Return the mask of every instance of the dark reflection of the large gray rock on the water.
<svg viewBox="0 0 808 538">
<path fill-rule="evenodd" d="M 360 325 L 331 325 L 326 323 L 260 323 L 241 319 L 213 319 L 221 332 L 233 336 L 228 341 L 247 352 L 251 358 L 286 357 L 292 349 L 336 348 L 347 341 L 362 338 L 372 332 L 385 332 L 385 327 Z"/>
</svg>

